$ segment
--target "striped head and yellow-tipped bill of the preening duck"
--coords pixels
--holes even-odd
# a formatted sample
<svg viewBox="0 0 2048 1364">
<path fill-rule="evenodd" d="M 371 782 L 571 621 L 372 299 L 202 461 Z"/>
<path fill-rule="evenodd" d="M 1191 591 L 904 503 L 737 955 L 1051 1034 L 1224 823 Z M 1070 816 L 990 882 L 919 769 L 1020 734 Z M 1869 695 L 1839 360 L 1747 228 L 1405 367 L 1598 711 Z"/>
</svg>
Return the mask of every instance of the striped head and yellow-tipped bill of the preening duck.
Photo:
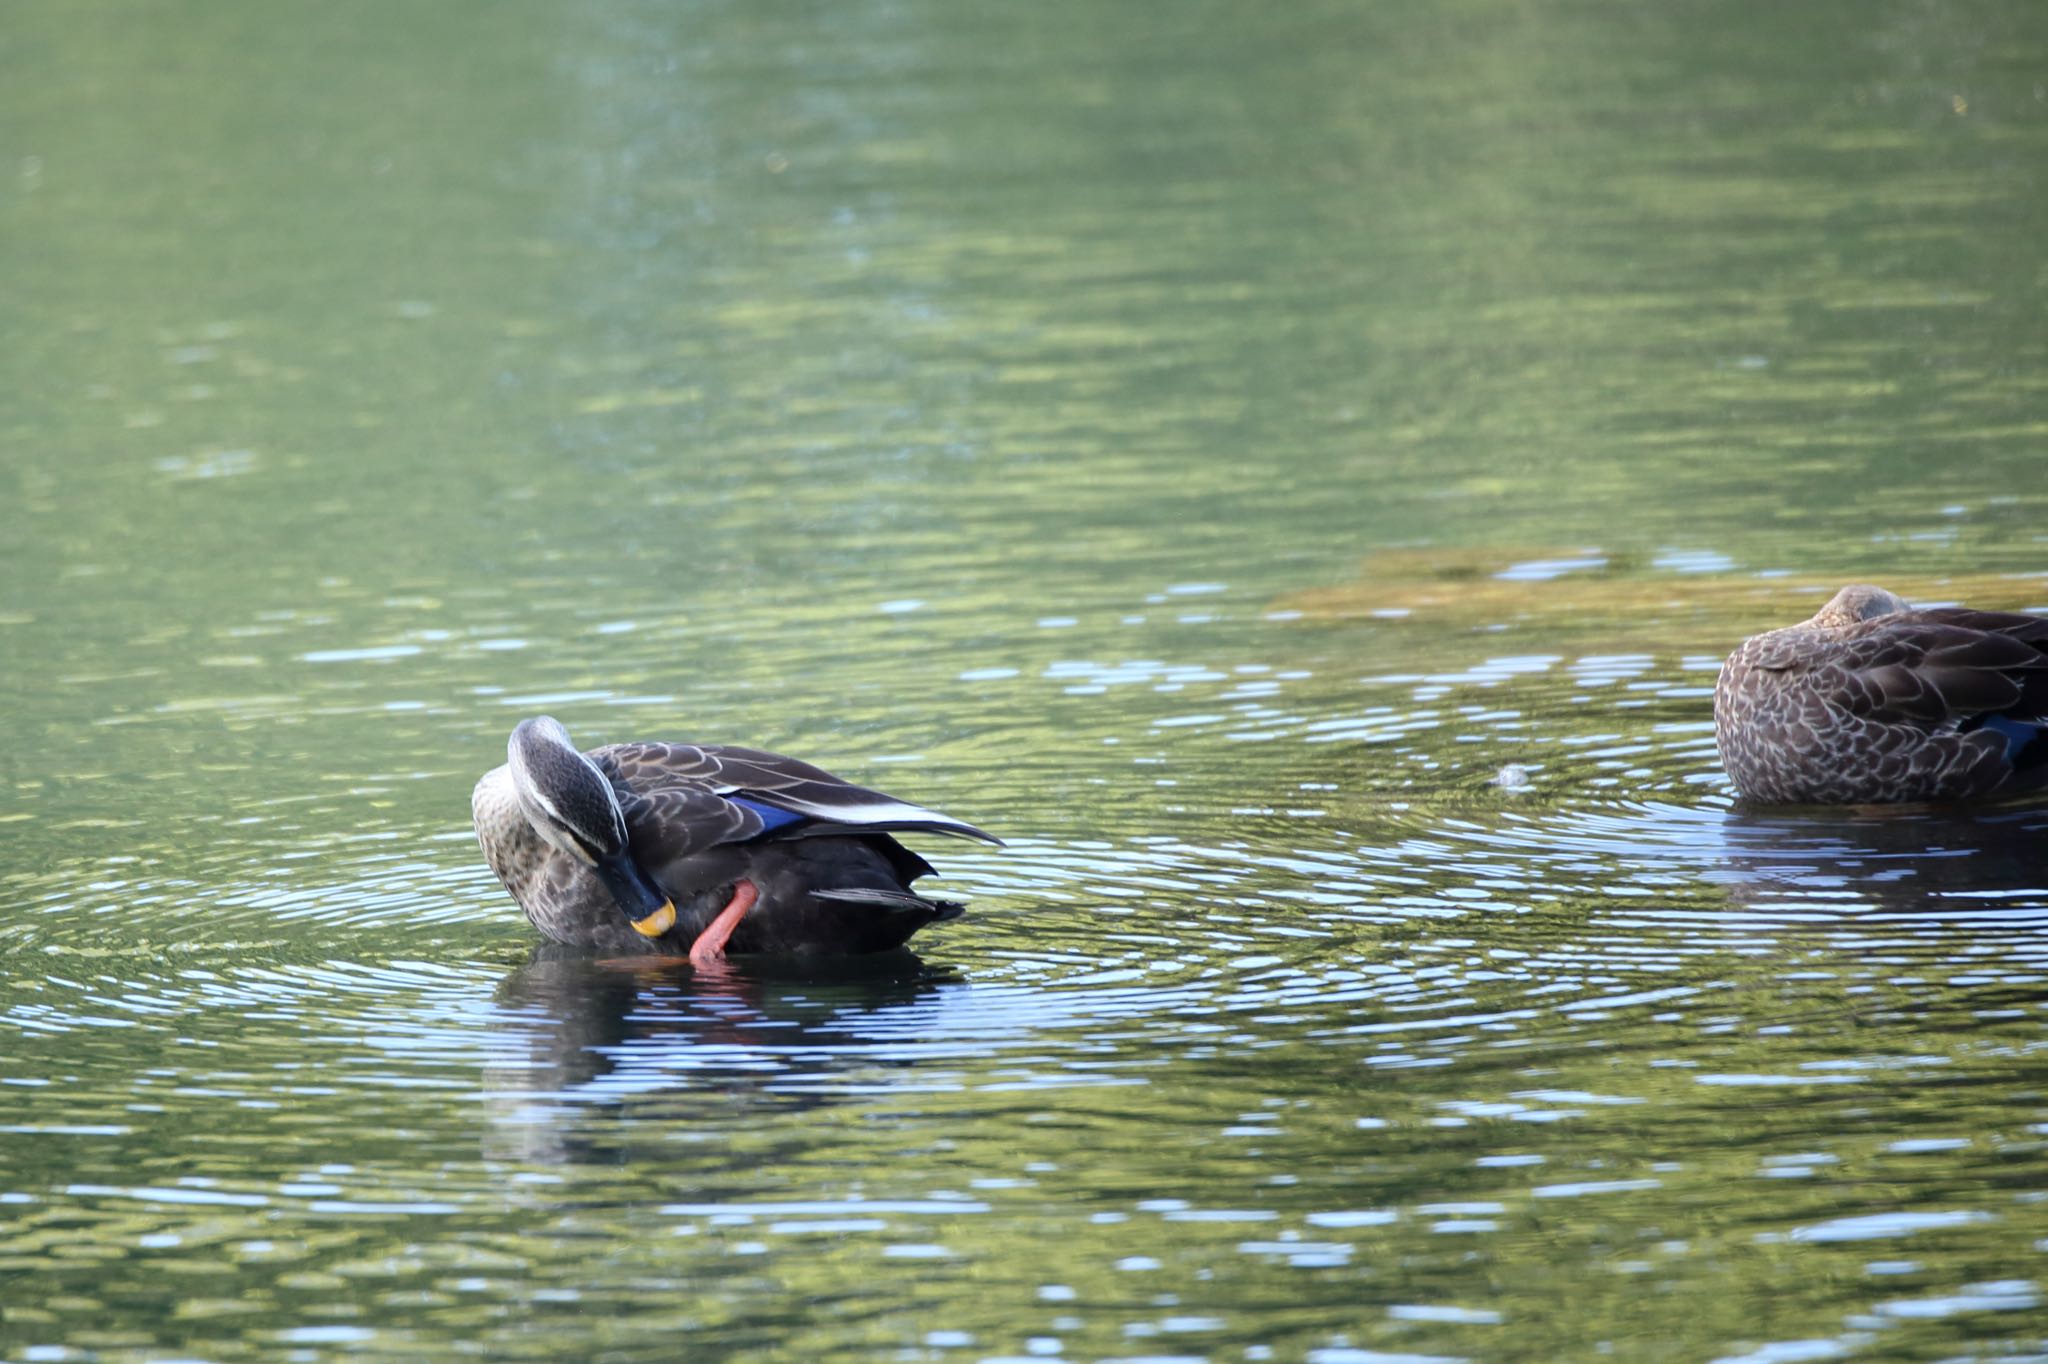
<svg viewBox="0 0 2048 1364">
<path fill-rule="evenodd" d="M 598 764 L 551 715 L 520 721 L 506 743 L 520 811 L 547 844 L 588 866 L 633 928 L 659 938 L 676 924 L 674 901 L 633 860 L 627 819 Z"/>
</svg>

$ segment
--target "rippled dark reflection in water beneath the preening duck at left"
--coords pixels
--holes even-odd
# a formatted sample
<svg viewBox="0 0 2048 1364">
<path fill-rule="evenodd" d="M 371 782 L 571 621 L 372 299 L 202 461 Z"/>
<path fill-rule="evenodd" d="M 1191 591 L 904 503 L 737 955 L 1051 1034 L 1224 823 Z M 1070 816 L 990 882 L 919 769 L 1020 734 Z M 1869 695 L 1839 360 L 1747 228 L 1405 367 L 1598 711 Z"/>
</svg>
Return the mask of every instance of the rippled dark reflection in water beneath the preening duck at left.
<svg viewBox="0 0 2048 1364">
<path fill-rule="evenodd" d="M 496 991 L 483 1153 L 672 1159 L 682 1126 L 831 1104 L 831 1075 L 905 1065 L 895 1049 L 928 1030 L 938 997 L 958 983 L 907 950 L 692 969 L 541 944 Z"/>
</svg>

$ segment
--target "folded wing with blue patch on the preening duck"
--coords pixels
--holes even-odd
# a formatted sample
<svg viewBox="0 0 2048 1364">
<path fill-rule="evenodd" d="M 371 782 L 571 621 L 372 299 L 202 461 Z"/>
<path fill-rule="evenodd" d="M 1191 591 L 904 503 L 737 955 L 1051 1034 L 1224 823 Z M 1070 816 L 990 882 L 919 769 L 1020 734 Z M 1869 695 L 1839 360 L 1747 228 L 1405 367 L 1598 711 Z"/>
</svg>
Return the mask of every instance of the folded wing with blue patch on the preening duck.
<svg viewBox="0 0 2048 1364">
<path fill-rule="evenodd" d="M 1001 844 L 965 819 L 954 819 L 924 805 L 899 801 L 881 791 L 840 780 L 823 768 L 758 748 L 723 743 L 612 743 L 594 750 L 590 758 L 612 778 L 612 784 L 639 799 L 674 799 L 674 813 L 664 821 L 702 817 L 707 834 L 713 827 L 731 829 L 715 842 L 741 842 L 766 832 L 791 834 L 840 829 L 895 829 L 920 834 L 950 834 Z M 694 797 L 711 797 L 735 813 L 719 815 L 715 807 Z M 621 801 L 623 805 L 625 801 Z M 631 811 L 629 811 L 631 823 Z M 803 827 L 805 823 L 811 829 Z"/>
</svg>

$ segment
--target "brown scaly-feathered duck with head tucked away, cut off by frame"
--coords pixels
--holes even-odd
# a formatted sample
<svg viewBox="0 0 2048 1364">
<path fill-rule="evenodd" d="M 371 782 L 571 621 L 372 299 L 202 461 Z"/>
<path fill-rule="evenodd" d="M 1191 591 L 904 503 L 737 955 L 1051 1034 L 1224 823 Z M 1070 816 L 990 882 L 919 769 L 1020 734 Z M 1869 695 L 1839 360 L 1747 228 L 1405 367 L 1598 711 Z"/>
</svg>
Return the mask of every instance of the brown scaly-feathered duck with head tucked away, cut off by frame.
<svg viewBox="0 0 2048 1364">
<path fill-rule="evenodd" d="M 2048 616 L 1837 592 L 1714 684 L 1735 788 L 1765 805 L 1982 801 L 2048 786 Z"/>
</svg>

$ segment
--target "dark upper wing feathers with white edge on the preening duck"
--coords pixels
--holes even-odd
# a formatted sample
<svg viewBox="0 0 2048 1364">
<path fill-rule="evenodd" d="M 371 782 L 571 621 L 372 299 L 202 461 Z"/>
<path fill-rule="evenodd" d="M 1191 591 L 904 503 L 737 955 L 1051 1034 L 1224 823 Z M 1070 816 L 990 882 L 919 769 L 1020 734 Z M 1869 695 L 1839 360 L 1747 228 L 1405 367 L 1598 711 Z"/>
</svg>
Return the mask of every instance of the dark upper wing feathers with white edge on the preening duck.
<svg viewBox="0 0 2048 1364">
<path fill-rule="evenodd" d="M 692 788 L 711 793 L 737 809 L 756 801 L 770 809 L 807 815 L 821 823 L 897 829 L 922 834 L 952 834 L 1001 844 L 965 819 L 954 819 L 924 805 L 899 801 L 881 791 L 854 786 L 823 768 L 758 748 L 723 743 L 614 743 L 592 754 L 600 766 L 610 764 L 625 786 L 637 793 Z M 756 813 L 756 817 L 760 817 Z M 772 827 L 772 825 L 764 825 Z"/>
</svg>

